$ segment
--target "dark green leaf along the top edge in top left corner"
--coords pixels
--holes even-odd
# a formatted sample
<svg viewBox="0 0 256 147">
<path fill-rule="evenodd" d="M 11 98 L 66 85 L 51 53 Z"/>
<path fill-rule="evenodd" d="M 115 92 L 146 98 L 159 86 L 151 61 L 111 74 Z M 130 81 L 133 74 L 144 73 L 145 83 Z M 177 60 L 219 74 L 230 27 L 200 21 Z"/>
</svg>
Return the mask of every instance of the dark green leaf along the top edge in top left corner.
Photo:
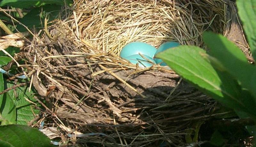
<svg viewBox="0 0 256 147">
<path fill-rule="evenodd" d="M 64 0 L 2 0 L 1 6 L 13 6 L 15 8 L 29 8 L 31 6 L 40 7 L 45 4 L 64 5 Z"/>
</svg>

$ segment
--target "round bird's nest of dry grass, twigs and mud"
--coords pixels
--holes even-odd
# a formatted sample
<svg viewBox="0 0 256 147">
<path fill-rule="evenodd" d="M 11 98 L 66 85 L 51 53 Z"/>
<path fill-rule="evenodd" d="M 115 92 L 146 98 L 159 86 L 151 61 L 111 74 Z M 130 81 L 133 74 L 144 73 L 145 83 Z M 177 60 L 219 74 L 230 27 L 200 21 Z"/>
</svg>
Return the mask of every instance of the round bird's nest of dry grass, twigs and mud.
<svg viewBox="0 0 256 147">
<path fill-rule="evenodd" d="M 213 117 L 215 101 L 174 71 L 119 58 L 129 42 L 205 48 L 202 32 L 212 30 L 249 55 L 228 0 L 78 0 L 63 13 L 24 48 L 28 76 L 52 114 L 48 127 L 62 128 L 63 142 L 69 134 L 89 146 L 182 146 L 193 121 Z"/>
</svg>

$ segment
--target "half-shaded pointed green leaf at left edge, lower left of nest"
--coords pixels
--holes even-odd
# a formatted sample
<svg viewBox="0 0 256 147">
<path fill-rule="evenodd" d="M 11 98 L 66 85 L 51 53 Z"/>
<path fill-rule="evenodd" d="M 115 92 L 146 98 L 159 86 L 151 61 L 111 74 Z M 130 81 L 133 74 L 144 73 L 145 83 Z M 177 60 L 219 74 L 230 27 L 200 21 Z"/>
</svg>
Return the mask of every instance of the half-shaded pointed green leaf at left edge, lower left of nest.
<svg viewBox="0 0 256 147">
<path fill-rule="evenodd" d="M 0 112 L 4 119 L 2 125 L 16 124 L 16 107 L 8 93 L 4 93 Z"/>
</svg>

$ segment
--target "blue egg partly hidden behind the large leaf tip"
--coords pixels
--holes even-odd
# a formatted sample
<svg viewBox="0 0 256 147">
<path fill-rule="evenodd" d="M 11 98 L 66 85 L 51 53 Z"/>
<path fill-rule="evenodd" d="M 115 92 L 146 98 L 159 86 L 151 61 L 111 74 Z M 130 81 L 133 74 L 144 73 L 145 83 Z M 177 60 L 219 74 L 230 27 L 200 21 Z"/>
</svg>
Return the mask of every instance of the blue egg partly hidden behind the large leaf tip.
<svg viewBox="0 0 256 147">
<path fill-rule="evenodd" d="M 160 53 L 160 52 L 162 52 L 162 51 L 164 51 L 164 50 L 166 50 L 166 49 L 177 47 L 177 46 L 179 46 L 179 45 L 180 45 L 179 43 L 174 42 L 174 41 L 165 42 L 165 43 L 163 43 L 162 45 L 160 45 L 160 47 L 159 47 L 159 48 L 157 49 L 157 51 L 156 51 L 156 54 L 157 54 L 157 53 Z M 162 63 L 160 64 L 161 66 L 167 66 L 167 64 L 164 63 L 162 59 L 155 58 L 155 61 L 156 61 L 157 64 L 162 62 Z"/>
</svg>

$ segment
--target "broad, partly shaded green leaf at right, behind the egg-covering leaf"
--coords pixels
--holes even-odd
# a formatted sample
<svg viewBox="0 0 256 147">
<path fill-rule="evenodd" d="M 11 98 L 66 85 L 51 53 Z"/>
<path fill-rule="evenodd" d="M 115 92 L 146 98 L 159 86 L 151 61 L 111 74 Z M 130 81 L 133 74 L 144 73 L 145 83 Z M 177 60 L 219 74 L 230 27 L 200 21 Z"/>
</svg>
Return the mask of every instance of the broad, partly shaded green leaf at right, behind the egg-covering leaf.
<svg viewBox="0 0 256 147">
<path fill-rule="evenodd" d="M 234 78 L 239 80 L 243 88 L 251 92 L 254 97 L 241 95 L 245 103 L 252 103 L 256 108 L 256 68 L 247 62 L 243 52 L 226 37 L 211 32 L 203 34 L 203 40 L 210 48 L 210 55 L 215 57 Z M 246 102 L 248 101 L 248 102 Z M 256 111 L 256 110 L 255 110 Z M 256 114 L 255 114 L 256 115 Z"/>
</svg>

